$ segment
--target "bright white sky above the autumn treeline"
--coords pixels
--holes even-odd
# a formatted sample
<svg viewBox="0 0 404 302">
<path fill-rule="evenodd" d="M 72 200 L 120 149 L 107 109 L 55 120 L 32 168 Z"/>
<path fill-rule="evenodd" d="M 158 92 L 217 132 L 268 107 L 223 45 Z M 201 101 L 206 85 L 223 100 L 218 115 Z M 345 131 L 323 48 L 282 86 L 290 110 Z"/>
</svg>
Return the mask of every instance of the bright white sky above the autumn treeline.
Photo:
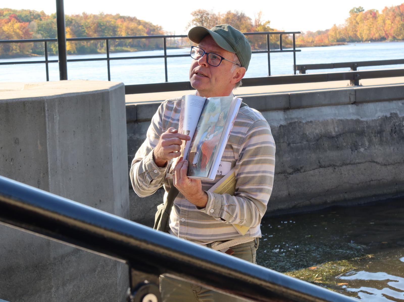
<svg viewBox="0 0 404 302">
<path fill-rule="evenodd" d="M 263 20 L 270 20 L 271 27 L 285 31 L 316 31 L 328 29 L 333 24 L 342 24 L 353 7 L 363 6 L 365 10 L 375 8 L 381 11 L 385 6 L 401 4 L 404 0 L 337 0 L 337 1 L 191 1 L 191 0 L 154 0 L 154 1 L 86 1 L 65 0 L 65 14 L 81 14 L 82 12 L 98 14 L 119 13 L 143 19 L 161 25 L 164 30 L 185 34 L 185 27 L 191 19 L 190 13 L 204 8 L 214 12 L 240 10 L 254 20 L 261 10 Z M 14 0 L 4 3 L 2 7 L 15 9 L 44 10 L 47 14 L 56 11 L 55 0 Z"/>
</svg>

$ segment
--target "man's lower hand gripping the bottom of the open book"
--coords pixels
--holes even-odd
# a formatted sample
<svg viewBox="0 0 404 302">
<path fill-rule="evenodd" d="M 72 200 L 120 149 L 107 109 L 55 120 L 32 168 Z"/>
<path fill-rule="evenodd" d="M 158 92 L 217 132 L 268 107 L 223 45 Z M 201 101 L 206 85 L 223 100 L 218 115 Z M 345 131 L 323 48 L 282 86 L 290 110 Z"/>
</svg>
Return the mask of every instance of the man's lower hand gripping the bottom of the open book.
<svg viewBox="0 0 404 302">
<path fill-rule="evenodd" d="M 199 208 L 204 208 L 208 203 L 208 194 L 202 190 L 200 179 L 187 177 L 188 160 L 179 161 L 174 171 L 173 183 L 178 191 L 192 204 Z"/>
</svg>

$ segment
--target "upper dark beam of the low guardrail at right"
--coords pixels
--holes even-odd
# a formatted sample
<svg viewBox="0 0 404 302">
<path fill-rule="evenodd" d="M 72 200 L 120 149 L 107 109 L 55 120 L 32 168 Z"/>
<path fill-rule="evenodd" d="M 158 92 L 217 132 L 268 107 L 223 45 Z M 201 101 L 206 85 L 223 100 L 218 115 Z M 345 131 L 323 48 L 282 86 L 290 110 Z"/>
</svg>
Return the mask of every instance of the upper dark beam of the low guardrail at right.
<svg viewBox="0 0 404 302">
<path fill-rule="evenodd" d="M 351 71 L 357 71 L 358 67 L 364 66 L 381 66 L 381 65 L 396 65 L 396 64 L 404 64 L 404 59 L 398 60 L 377 60 L 377 61 L 358 61 L 358 62 L 340 62 L 340 63 L 322 63 L 322 64 L 302 64 L 302 65 L 293 65 L 293 71 L 296 74 L 296 71 L 299 71 L 300 74 L 305 74 L 306 70 L 315 70 L 315 69 L 334 69 L 334 68 L 345 68 L 350 67 Z M 359 79 L 351 80 L 351 85 L 359 85 Z"/>
</svg>

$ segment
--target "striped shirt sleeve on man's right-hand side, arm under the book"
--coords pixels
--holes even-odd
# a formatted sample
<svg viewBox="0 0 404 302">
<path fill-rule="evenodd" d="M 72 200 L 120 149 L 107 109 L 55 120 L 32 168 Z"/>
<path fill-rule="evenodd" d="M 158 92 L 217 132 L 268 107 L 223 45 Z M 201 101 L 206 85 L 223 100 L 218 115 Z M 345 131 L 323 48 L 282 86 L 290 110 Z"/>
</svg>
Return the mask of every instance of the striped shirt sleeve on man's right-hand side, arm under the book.
<svg viewBox="0 0 404 302">
<path fill-rule="evenodd" d="M 267 209 L 275 172 L 275 142 L 267 121 L 249 127 L 236 162 L 236 192 L 207 192 L 208 203 L 202 212 L 218 221 L 256 227 Z"/>
</svg>

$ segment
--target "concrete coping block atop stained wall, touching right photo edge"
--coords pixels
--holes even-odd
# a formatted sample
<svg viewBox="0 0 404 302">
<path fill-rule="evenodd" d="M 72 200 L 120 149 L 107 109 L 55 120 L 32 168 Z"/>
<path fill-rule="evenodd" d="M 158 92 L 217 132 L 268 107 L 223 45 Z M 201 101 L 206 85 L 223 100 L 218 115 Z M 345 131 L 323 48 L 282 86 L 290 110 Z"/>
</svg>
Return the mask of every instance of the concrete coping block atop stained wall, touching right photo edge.
<svg viewBox="0 0 404 302">
<path fill-rule="evenodd" d="M 358 88 L 356 91 L 356 103 L 380 102 L 404 99 L 404 85 L 392 85 L 385 87 Z"/>
</svg>

